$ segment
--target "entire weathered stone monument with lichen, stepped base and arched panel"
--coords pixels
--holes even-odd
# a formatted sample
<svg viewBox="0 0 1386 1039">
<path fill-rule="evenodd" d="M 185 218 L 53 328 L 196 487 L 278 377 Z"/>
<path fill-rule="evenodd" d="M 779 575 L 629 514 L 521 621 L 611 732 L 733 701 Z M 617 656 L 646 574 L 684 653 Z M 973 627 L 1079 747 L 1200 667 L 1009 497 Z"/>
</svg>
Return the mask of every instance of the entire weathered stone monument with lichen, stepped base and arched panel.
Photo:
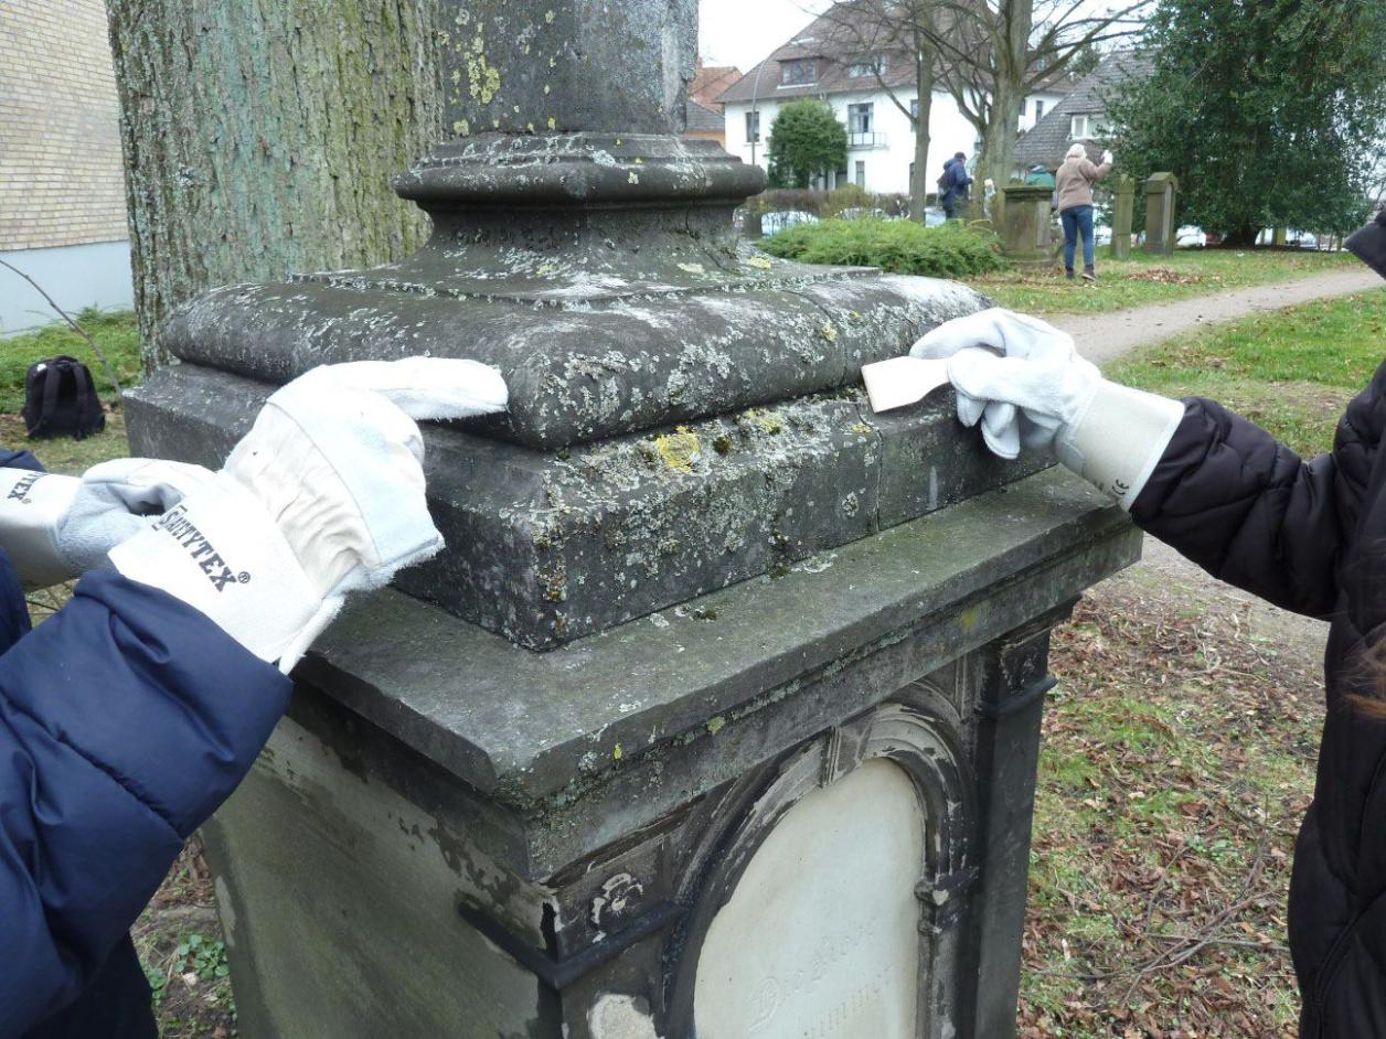
<svg viewBox="0 0 1386 1039">
<path fill-rule="evenodd" d="M 129 403 L 218 464 L 320 363 L 493 363 L 448 539 L 352 603 L 205 830 L 248 1036 L 1015 1031 L 1048 633 L 1138 539 L 861 364 L 985 305 L 737 244 L 693 0 L 452 3 L 427 248 L 218 290 Z"/>
</svg>

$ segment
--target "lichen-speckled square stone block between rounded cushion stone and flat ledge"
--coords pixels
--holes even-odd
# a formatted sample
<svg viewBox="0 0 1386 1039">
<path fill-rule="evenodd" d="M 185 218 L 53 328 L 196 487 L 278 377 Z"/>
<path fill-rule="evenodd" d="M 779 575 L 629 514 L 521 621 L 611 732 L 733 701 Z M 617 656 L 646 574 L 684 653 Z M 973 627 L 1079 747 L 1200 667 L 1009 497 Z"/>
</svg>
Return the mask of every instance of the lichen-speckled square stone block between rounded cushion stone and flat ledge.
<svg viewBox="0 0 1386 1039">
<path fill-rule="evenodd" d="M 137 452 L 215 465 L 269 388 L 183 364 L 130 396 Z M 778 574 L 1017 479 L 954 418 L 951 395 L 875 416 L 857 389 L 538 453 L 428 431 L 448 549 L 410 594 L 531 648 Z"/>
</svg>

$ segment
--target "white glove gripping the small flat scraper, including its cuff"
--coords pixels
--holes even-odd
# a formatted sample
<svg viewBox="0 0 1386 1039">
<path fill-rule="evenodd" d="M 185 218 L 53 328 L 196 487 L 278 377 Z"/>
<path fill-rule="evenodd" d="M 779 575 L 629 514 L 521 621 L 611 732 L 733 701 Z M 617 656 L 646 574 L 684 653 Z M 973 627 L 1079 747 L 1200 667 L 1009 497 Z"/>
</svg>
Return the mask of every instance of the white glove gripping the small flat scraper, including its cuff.
<svg viewBox="0 0 1386 1039">
<path fill-rule="evenodd" d="M 958 418 L 980 421 L 994 453 L 1015 459 L 1021 446 L 1049 449 L 1123 508 L 1184 418 L 1177 400 L 1102 378 L 1067 332 L 999 308 L 938 326 L 909 353 L 949 359 Z"/>
</svg>

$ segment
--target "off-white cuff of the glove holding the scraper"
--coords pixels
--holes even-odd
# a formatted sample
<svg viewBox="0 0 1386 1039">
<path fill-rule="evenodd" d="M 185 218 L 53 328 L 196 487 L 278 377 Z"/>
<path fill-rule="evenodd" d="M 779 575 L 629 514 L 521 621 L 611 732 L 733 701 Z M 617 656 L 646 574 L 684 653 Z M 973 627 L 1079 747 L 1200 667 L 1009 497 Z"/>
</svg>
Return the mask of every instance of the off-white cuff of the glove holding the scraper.
<svg viewBox="0 0 1386 1039">
<path fill-rule="evenodd" d="M 1100 380 L 1055 450 L 1059 461 L 1130 510 L 1182 420 L 1178 400 Z"/>
</svg>

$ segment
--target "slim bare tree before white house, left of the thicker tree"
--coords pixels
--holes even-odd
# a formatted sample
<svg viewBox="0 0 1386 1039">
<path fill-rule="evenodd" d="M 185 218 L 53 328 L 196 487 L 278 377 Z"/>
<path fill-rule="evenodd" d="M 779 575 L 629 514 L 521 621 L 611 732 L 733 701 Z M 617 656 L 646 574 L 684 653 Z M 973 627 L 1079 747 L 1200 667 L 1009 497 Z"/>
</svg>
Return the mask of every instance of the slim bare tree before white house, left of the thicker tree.
<svg viewBox="0 0 1386 1039">
<path fill-rule="evenodd" d="M 929 194 L 929 114 L 938 71 L 936 12 L 940 0 L 844 0 L 819 15 L 834 54 L 863 66 L 915 133 L 915 162 L 909 179 L 909 216 L 923 220 Z M 900 78 L 898 62 L 913 75 Z"/>
</svg>

